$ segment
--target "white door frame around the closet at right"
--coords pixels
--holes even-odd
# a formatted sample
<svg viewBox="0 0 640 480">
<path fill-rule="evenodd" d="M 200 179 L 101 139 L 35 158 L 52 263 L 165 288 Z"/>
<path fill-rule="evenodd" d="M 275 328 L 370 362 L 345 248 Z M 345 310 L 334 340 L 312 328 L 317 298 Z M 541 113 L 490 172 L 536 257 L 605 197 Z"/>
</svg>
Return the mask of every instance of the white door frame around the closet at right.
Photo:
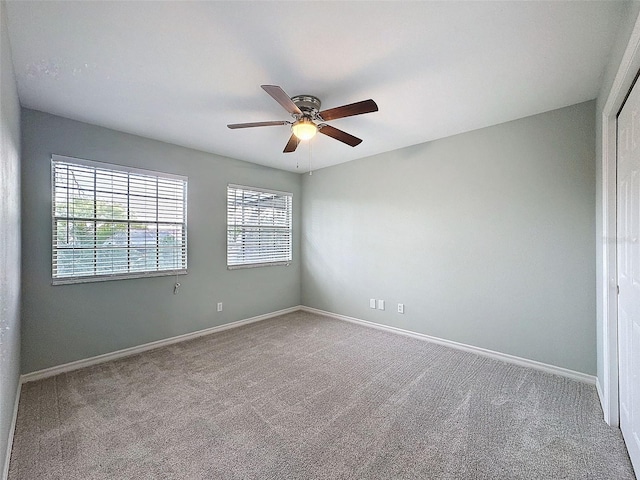
<svg viewBox="0 0 640 480">
<path fill-rule="evenodd" d="M 622 61 L 602 111 L 602 251 L 601 286 L 603 378 L 598 393 L 604 420 L 619 426 L 618 398 L 618 274 L 616 268 L 616 116 L 640 70 L 640 16 L 636 19 Z"/>
</svg>

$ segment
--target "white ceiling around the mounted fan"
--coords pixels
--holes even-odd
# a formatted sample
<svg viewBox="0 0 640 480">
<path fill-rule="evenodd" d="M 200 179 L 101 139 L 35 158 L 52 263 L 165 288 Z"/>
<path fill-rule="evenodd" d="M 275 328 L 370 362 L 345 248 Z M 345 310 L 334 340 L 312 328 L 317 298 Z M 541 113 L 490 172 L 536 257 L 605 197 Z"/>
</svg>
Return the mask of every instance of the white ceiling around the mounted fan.
<svg viewBox="0 0 640 480">
<path fill-rule="evenodd" d="M 261 88 L 322 108 L 314 169 L 596 97 L 625 2 L 9 1 L 23 106 L 284 170 L 290 120 Z M 296 165 L 299 163 L 299 168 Z"/>
</svg>

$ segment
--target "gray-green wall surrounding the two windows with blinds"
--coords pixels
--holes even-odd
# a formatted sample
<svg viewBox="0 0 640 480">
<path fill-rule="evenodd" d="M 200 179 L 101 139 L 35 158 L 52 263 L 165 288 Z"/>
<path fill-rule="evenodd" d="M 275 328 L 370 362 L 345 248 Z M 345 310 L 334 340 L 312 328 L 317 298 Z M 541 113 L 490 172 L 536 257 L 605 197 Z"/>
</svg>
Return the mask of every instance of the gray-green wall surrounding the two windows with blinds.
<svg viewBox="0 0 640 480">
<path fill-rule="evenodd" d="M 299 175 L 27 109 L 22 138 L 23 373 L 300 303 Z M 51 285 L 51 154 L 189 177 L 189 273 L 178 295 L 175 277 Z M 228 183 L 293 193 L 290 267 L 226 269 Z"/>
</svg>

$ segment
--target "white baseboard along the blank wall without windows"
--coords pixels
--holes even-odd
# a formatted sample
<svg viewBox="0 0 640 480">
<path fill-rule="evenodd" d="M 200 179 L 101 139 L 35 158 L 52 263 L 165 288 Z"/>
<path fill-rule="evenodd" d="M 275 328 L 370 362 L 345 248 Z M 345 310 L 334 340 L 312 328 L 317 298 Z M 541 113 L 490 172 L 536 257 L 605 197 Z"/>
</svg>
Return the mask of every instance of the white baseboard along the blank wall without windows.
<svg viewBox="0 0 640 480">
<path fill-rule="evenodd" d="M 584 382 L 591 385 L 597 385 L 596 377 L 594 377 L 593 375 L 587 375 L 586 373 L 576 372 L 574 370 L 569 370 L 568 368 L 557 367 L 555 365 L 549 365 L 547 363 L 538 362 L 536 360 L 529 360 L 527 358 L 517 357 L 515 355 L 509 355 L 507 353 L 496 352 L 494 350 L 489 350 L 486 348 L 475 347 L 473 345 L 454 342 L 452 340 L 445 340 L 443 338 L 432 337 L 431 335 L 412 332 L 410 330 L 403 330 L 402 328 L 397 328 L 397 327 L 390 327 L 388 325 L 369 322 L 367 320 L 361 320 L 359 318 L 348 317 L 346 315 L 339 315 L 337 313 L 327 312 L 324 310 L 319 310 L 317 308 L 302 306 L 300 307 L 300 310 L 310 312 L 310 313 L 317 313 L 319 315 L 325 315 L 327 317 L 335 318 L 337 320 L 344 320 L 346 322 L 357 323 L 359 325 L 364 325 L 366 327 L 377 328 L 379 330 L 385 330 L 387 332 L 397 333 L 400 335 L 405 335 L 405 336 L 417 338 L 420 340 L 425 340 L 432 343 L 437 343 L 439 345 L 444 345 L 446 347 L 455 348 L 457 350 L 463 350 L 465 352 L 471 352 L 478 355 L 483 355 L 485 357 L 490 357 L 495 360 L 512 363 L 515 365 L 519 365 L 521 367 L 534 368 L 536 370 L 541 370 L 543 372 L 551 373 L 554 375 L 560 375 L 562 377 L 570 378 L 572 380 L 577 380 L 579 382 Z"/>
</svg>

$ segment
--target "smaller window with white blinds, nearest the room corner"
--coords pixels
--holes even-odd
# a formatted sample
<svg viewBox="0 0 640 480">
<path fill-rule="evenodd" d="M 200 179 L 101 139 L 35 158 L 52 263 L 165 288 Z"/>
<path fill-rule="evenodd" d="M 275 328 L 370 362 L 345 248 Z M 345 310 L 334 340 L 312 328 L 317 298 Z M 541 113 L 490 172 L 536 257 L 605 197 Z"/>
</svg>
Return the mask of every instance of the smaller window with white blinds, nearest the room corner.
<svg viewBox="0 0 640 480">
<path fill-rule="evenodd" d="M 227 187 L 227 268 L 289 265 L 292 194 Z"/>
</svg>

